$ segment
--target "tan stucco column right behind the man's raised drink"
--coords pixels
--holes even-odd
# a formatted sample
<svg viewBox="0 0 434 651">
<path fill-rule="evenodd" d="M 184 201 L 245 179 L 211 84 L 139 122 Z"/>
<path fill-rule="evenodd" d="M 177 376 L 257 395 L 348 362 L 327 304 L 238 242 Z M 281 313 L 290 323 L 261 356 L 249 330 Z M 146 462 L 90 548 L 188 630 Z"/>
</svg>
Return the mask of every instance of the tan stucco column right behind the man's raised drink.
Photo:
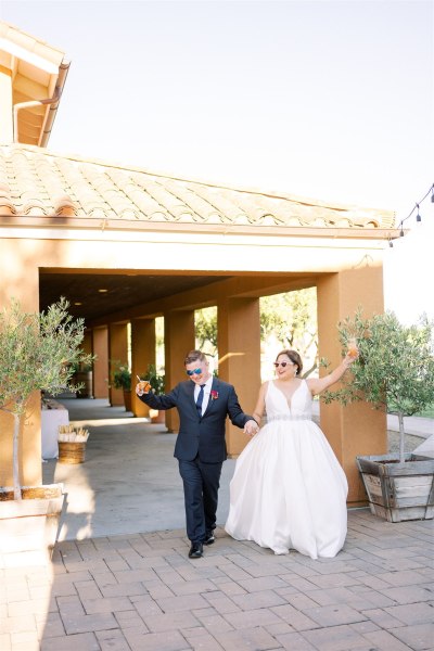
<svg viewBox="0 0 434 651">
<path fill-rule="evenodd" d="M 155 319 L 132 319 L 131 321 L 131 405 L 132 413 L 148 417 L 149 407 L 136 395 L 137 378 L 146 379 L 148 365 L 155 363 Z"/>
</svg>

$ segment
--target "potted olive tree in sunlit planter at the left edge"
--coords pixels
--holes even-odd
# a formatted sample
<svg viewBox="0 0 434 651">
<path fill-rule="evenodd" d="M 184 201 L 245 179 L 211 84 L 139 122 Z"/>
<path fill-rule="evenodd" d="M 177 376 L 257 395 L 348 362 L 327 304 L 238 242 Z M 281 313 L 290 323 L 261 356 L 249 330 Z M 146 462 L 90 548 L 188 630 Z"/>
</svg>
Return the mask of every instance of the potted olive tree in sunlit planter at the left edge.
<svg viewBox="0 0 434 651">
<path fill-rule="evenodd" d="M 29 414 L 30 398 L 35 392 L 56 395 L 77 387 L 71 380 L 77 363 L 90 363 L 91 356 L 80 348 L 84 339 L 84 320 L 73 320 L 67 312 L 68 303 L 61 298 L 46 312 L 28 314 L 12 299 L 10 307 L 0 312 L 0 410 L 11 417 L 13 486 L 0 490 L 0 521 L 2 546 L 9 551 L 20 551 L 20 544 L 40 547 L 40 538 L 48 547 L 54 545 L 64 495 L 62 485 L 22 486 L 20 476 L 20 431 Z M 9 429 L 8 429 L 9 430 Z M 48 518 L 35 536 L 33 524 L 41 515 Z M 30 523 L 27 519 L 30 519 Z M 33 519 L 33 520 L 31 520 Z M 17 523 L 25 534 L 16 538 Z M 40 526 L 39 526 L 40 528 Z M 8 532 L 13 532 L 13 540 Z M 31 534 L 31 535 L 29 535 Z"/>
</svg>

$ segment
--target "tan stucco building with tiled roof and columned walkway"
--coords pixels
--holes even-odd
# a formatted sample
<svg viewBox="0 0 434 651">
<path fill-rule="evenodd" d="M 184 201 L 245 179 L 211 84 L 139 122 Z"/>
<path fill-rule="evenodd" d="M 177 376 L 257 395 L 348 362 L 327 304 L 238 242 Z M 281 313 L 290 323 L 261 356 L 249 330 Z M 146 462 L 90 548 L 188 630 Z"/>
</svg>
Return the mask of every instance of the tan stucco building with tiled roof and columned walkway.
<svg viewBox="0 0 434 651">
<path fill-rule="evenodd" d="M 29 35 L 0 25 L 0 307 L 27 311 L 66 296 L 86 318 L 97 355 L 93 395 L 112 404 L 110 360 L 132 374 L 155 360 L 156 317 L 165 322 L 166 386 L 183 379 L 194 347 L 194 310 L 217 306 L 219 375 L 252 411 L 260 384 L 259 298 L 315 286 L 319 355 L 337 365 L 336 324 L 362 306 L 383 311 L 383 252 L 397 237 L 394 214 L 330 205 L 284 193 L 162 176 L 47 149 L 69 64 Z M 18 106 L 18 107 L 17 107 Z M 315 192 L 315 188 L 312 189 Z M 145 406 L 133 400 L 133 411 Z M 366 404 L 321 406 L 321 427 L 365 501 L 356 455 L 386 449 L 385 414 Z M 177 414 L 167 414 L 177 431 Z M 0 483 L 11 485 L 12 442 L 0 414 Z M 228 424 L 228 451 L 246 441 Z M 40 408 L 23 432 L 23 484 L 41 483 Z"/>
</svg>

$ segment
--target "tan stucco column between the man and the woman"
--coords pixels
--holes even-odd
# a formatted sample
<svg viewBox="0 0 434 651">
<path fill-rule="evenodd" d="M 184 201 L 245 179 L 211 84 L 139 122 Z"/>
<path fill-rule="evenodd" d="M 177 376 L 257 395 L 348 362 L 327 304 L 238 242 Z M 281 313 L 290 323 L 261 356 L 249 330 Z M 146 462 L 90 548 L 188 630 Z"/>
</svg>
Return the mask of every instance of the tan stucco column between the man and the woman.
<svg viewBox="0 0 434 651">
<path fill-rule="evenodd" d="M 260 327 L 258 298 L 225 298 L 217 304 L 218 375 L 234 385 L 240 405 L 252 413 L 260 386 Z M 230 457 L 239 455 L 248 438 L 228 423 Z"/>
</svg>

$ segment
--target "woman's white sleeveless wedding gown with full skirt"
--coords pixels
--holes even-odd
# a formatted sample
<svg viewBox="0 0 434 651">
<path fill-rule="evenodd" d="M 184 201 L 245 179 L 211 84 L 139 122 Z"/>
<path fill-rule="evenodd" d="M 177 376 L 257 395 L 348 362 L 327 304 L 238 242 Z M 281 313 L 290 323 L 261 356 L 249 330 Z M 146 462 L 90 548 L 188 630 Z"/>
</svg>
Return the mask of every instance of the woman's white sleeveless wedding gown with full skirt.
<svg viewBox="0 0 434 651">
<path fill-rule="evenodd" d="M 268 383 L 267 424 L 237 460 L 225 528 L 275 553 L 296 549 L 312 559 L 332 558 L 346 537 L 346 476 L 311 420 L 305 380 L 291 403 Z"/>
</svg>

